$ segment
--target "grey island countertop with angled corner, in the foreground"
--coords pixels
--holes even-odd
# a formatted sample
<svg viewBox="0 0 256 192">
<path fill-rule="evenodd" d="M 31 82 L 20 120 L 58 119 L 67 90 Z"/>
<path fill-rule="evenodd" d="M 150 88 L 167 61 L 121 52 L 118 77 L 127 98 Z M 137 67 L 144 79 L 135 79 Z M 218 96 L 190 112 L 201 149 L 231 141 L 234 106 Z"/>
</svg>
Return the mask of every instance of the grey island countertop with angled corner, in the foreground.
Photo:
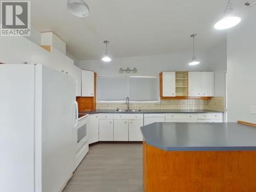
<svg viewBox="0 0 256 192">
<path fill-rule="evenodd" d="M 256 128 L 238 123 L 152 123 L 141 132 L 165 151 L 256 151 Z"/>
</svg>

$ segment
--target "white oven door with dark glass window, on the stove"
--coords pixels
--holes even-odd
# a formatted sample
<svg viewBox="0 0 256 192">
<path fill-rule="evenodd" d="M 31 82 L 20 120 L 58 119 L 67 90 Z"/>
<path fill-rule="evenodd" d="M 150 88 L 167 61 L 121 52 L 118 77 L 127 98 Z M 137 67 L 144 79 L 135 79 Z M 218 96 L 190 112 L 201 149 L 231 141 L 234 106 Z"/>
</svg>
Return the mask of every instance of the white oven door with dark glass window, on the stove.
<svg viewBox="0 0 256 192">
<path fill-rule="evenodd" d="M 76 152 L 88 142 L 88 118 L 82 119 L 77 125 L 77 145 Z"/>
</svg>

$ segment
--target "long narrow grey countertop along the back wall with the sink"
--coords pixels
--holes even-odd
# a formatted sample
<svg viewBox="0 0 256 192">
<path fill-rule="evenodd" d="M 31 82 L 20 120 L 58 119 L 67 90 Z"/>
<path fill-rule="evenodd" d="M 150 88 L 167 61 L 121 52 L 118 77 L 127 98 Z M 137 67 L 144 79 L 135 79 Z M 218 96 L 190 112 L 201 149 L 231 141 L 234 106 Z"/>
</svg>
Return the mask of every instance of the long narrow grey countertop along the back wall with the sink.
<svg viewBox="0 0 256 192">
<path fill-rule="evenodd" d="M 115 112 L 115 110 L 96 110 L 96 111 L 82 111 L 79 114 L 98 114 L 98 113 L 223 113 L 211 110 L 141 110 L 140 112 Z"/>
</svg>

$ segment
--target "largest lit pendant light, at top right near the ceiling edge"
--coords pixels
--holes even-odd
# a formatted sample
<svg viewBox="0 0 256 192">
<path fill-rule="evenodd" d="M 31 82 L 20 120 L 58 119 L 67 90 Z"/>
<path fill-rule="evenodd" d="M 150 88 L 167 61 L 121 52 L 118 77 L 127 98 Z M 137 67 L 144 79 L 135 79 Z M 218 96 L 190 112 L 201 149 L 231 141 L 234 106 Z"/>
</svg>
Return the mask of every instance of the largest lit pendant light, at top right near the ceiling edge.
<svg viewBox="0 0 256 192">
<path fill-rule="evenodd" d="M 227 7 L 224 11 L 222 18 L 214 25 L 215 29 L 223 30 L 229 29 L 238 25 L 241 22 L 241 18 L 233 15 L 233 8 L 230 0 L 228 0 Z"/>
</svg>

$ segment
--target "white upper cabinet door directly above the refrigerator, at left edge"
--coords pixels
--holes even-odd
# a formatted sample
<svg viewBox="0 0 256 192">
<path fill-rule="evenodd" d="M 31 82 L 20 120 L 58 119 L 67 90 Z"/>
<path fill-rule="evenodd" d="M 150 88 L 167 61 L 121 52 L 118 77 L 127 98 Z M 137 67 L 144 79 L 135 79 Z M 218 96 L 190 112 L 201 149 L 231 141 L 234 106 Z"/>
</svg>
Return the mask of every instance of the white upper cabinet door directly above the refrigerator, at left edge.
<svg viewBox="0 0 256 192">
<path fill-rule="evenodd" d="M 0 36 L 0 62 L 6 64 L 30 63 L 30 41 L 25 37 Z"/>
</svg>

